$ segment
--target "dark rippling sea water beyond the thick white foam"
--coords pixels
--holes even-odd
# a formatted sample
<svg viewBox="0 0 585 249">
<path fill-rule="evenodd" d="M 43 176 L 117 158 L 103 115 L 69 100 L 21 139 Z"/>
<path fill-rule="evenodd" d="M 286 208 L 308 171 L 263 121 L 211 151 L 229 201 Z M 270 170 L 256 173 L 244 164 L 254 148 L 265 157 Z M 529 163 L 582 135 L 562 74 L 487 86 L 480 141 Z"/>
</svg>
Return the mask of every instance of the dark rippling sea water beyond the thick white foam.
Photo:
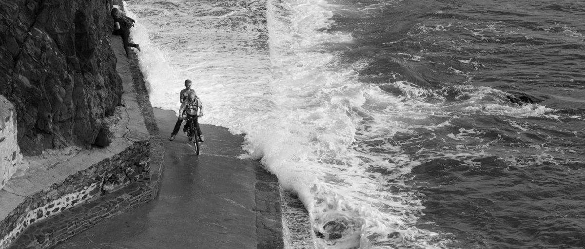
<svg viewBox="0 0 585 249">
<path fill-rule="evenodd" d="M 329 30 L 355 36 L 335 49 L 369 61 L 360 81 L 441 106 L 381 141 L 421 161 L 417 227 L 448 248 L 584 248 L 585 2 L 386 3 L 335 1 Z"/>
</svg>

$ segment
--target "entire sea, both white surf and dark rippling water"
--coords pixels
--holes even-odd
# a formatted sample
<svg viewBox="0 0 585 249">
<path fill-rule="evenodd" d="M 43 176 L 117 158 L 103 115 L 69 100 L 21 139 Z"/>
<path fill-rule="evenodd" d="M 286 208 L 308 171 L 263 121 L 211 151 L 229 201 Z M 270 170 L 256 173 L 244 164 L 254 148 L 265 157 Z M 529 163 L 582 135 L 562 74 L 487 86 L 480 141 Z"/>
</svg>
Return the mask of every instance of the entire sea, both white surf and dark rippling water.
<svg viewBox="0 0 585 249">
<path fill-rule="evenodd" d="M 585 247 L 584 1 L 126 9 L 153 106 L 191 79 L 278 177 L 287 248 Z"/>
</svg>

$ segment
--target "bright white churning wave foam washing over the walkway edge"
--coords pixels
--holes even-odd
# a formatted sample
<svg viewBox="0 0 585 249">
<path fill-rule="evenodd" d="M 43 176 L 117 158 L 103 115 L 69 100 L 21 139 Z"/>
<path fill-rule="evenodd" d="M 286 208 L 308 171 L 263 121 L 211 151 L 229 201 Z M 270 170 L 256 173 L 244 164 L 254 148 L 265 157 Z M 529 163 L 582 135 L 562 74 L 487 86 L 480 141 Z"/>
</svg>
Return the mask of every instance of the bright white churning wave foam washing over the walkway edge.
<svg viewBox="0 0 585 249">
<path fill-rule="evenodd" d="M 200 122 L 245 134 L 248 156 L 304 203 L 317 248 L 444 248 L 439 234 L 415 226 L 424 207 L 405 181 L 420 162 L 393 135 L 445 126 L 441 117 L 454 111 L 545 112 L 477 105 L 494 95 L 487 88 L 452 105 L 425 102 L 441 93 L 408 82 L 393 83 L 404 95 L 359 82 L 364 63 L 345 65 L 327 49 L 353 38 L 326 31 L 335 6 L 323 0 L 145 0 L 127 9 L 153 106 L 177 110 L 191 79 L 205 106 Z"/>
</svg>

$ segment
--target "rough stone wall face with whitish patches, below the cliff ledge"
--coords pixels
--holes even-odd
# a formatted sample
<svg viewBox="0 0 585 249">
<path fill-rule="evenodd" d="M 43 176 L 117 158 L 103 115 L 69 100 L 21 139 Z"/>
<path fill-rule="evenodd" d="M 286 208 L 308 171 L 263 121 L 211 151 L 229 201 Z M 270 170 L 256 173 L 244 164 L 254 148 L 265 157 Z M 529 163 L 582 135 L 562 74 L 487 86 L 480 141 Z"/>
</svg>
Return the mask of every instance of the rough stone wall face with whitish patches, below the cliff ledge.
<svg viewBox="0 0 585 249">
<path fill-rule="evenodd" d="M 70 175 L 63 182 L 57 182 L 27 196 L 4 220 L 0 221 L 0 248 L 8 248 L 32 223 L 39 222 L 54 215 L 61 215 L 66 210 L 74 207 L 77 208 L 80 203 L 87 203 L 91 202 L 91 200 L 101 198 L 102 195 L 108 193 L 108 191 L 104 190 L 104 185 L 106 185 L 106 189 L 110 188 L 113 191 L 133 182 L 149 180 L 150 173 L 148 168 L 144 167 L 144 164 L 147 164 L 147 159 L 150 158 L 149 147 L 150 140 L 133 143 L 132 146 L 127 147 L 121 153 L 113 157 L 105 158 L 85 170 L 77 172 L 77 174 Z M 137 168 L 142 168 L 139 174 L 135 174 Z M 144 170 L 145 168 L 146 170 Z M 133 171 L 128 174 L 131 177 L 127 176 L 124 180 L 116 184 L 112 184 L 110 181 L 112 175 L 119 175 L 121 172 L 130 171 Z M 111 186 L 108 187 L 107 184 Z M 128 199 L 129 202 L 136 201 L 132 198 Z M 113 203 L 109 205 L 113 205 Z M 106 209 L 88 215 L 105 219 L 105 217 L 109 217 L 115 213 L 110 213 Z M 89 219 L 87 222 L 89 223 L 91 220 Z M 75 229 L 75 227 L 81 227 L 82 225 L 81 223 L 67 224 L 61 232 L 67 233 L 68 227 Z M 52 238 L 54 232 L 54 230 L 43 231 L 44 235 L 51 237 L 49 240 L 43 238 L 42 240 L 35 239 L 32 241 L 43 242 L 40 243 L 40 247 L 38 248 L 46 248 L 43 244 L 54 245 L 55 241 Z M 35 245 L 35 247 L 31 248 L 37 247 Z"/>
</svg>

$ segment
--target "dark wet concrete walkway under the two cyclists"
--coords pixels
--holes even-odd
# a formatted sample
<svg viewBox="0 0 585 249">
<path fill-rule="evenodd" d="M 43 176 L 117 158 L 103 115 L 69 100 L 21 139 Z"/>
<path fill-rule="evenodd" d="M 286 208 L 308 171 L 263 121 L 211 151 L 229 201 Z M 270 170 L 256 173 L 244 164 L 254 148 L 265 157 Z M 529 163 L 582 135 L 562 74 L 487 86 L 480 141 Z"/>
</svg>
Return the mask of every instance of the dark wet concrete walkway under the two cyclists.
<svg viewBox="0 0 585 249">
<path fill-rule="evenodd" d="M 242 137 L 201 125 L 205 142 L 197 156 L 182 132 L 168 140 L 174 112 L 155 108 L 154 116 L 165 150 L 159 196 L 54 248 L 257 248 L 259 162 L 238 157 Z"/>
</svg>

